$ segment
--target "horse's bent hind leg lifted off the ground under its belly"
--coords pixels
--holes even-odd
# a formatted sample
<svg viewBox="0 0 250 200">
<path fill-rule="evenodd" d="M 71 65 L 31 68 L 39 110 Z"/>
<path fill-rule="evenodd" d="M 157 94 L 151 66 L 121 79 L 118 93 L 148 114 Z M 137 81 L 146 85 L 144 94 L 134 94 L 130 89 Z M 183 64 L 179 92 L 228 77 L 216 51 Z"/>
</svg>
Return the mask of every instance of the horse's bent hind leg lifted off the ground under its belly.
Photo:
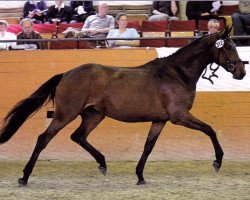
<svg viewBox="0 0 250 200">
<path fill-rule="evenodd" d="M 105 157 L 87 141 L 89 133 L 104 119 L 105 115 L 92 108 L 87 108 L 81 114 L 81 117 L 82 123 L 71 135 L 71 139 L 95 158 L 97 163 L 100 164 L 99 170 L 105 175 L 107 171 Z"/>
</svg>

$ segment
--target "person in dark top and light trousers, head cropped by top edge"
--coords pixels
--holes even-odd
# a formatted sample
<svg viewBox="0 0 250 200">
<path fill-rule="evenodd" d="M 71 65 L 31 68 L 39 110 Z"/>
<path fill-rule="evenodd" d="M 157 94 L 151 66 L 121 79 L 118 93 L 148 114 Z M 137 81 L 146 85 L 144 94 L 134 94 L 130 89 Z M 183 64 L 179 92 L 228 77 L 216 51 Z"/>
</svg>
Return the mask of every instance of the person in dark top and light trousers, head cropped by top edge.
<svg viewBox="0 0 250 200">
<path fill-rule="evenodd" d="M 178 20 L 178 3 L 176 1 L 154 1 L 152 14 L 148 21 Z"/>
</svg>

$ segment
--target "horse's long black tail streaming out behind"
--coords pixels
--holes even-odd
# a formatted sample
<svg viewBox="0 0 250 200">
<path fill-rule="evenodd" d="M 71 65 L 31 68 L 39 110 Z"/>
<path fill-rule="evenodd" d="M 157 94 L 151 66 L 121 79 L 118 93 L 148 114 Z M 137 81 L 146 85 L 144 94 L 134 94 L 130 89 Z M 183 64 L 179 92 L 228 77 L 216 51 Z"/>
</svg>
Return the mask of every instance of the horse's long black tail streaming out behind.
<svg viewBox="0 0 250 200">
<path fill-rule="evenodd" d="M 62 79 L 62 76 L 63 74 L 58 74 L 52 77 L 30 97 L 21 100 L 9 111 L 0 129 L 0 144 L 7 142 L 27 118 L 41 108 L 45 102 L 54 100 L 56 87 Z"/>
</svg>

